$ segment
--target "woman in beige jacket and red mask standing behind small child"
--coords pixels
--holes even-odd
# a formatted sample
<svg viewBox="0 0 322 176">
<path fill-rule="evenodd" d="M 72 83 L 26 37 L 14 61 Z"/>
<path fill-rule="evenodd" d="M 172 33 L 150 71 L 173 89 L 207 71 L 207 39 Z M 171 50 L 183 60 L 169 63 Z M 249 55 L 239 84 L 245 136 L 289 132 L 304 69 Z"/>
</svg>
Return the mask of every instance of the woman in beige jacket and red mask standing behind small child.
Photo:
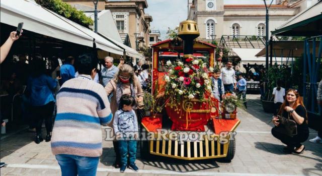
<svg viewBox="0 0 322 176">
<path fill-rule="evenodd" d="M 113 117 L 115 112 L 119 109 L 120 99 L 123 94 L 128 94 L 135 98 L 137 102 L 136 108 L 141 109 L 143 107 L 144 94 L 141 84 L 136 77 L 133 68 L 127 64 L 124 64 L 119 68 L 119 72 L 116 77 L 105 86 L 105 91 L 107 95 L 113 93 L 110 103 Z M 110 127 L 113 128 L 112 124 L 110 124 Z M 113 141 L 114 151 L 116 153 L 115 167 L 119 168 L 120 155 L 117 144 L 117 141 Z"/>
</svg>

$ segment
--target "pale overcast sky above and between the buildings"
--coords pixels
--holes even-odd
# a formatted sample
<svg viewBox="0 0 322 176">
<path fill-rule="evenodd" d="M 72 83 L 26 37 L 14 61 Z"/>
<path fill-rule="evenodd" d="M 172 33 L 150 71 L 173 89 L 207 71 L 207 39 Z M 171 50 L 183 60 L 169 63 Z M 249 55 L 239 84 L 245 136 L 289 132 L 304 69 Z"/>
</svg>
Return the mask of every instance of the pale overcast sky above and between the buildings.
<svg viewBox="0 0 322 176">
<path fill-rule="evenodd" d="M 162 38 L 166 37 L 168 27 L 175 28 L 188 17 L 188 0 L 147 0 L 145 13 L 152 16 L 151 30 L 160 30 Z M 271 1 L 267 1 L 271 2 Z M 262 0 L 224 0 L 224 4 L 259 4 Z M 273 0 L 275 4 L 275 0 Z"/>
</svg>

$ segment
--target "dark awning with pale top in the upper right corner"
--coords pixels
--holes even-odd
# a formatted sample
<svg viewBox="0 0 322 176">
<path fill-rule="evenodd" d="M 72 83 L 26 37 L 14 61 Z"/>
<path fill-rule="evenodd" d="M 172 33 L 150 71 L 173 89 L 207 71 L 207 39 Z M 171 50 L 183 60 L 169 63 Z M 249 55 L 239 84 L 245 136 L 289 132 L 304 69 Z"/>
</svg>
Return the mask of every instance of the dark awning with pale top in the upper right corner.
<svg viewBox="0 0 322 176">
<path fill-rule="evenodd" d="M 322 1 L 303 10 L 272 31 L 278 36 L 317 36 L 322 34 Z"/>
</svg>

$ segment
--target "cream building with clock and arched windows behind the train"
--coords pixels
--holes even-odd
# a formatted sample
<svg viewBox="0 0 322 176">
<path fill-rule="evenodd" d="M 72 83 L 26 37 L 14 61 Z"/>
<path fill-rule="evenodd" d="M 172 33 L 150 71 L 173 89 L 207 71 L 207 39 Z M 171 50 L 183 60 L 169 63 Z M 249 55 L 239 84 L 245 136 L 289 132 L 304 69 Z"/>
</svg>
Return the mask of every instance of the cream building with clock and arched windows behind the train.
<svg viewBox="0 0 322 176">
<path fill-rule="evenodd" d="M 316 0 L 276 1 L 269 9 L 269 31 L 314 4 Z M 224 5 L 223 0 L 188 0 L 188 19 L 198 23 L 201 40 L 222 35 L 266 35 L 265 5 Z"/>
</svg>

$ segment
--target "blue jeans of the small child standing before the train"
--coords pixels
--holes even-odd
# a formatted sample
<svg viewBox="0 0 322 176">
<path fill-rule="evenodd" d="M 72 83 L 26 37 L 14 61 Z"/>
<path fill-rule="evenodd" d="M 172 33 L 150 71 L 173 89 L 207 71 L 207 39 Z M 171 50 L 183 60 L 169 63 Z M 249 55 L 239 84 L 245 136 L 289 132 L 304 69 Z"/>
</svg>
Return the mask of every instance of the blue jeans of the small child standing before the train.
<svg viewBox="0 0 322 176">
<path fill-rule="evenodd" d="M 121 157 L 121 165 L 127 165 L 127 154 L 129 155 L 130 164 L 134 164 L 136 159 L 136 143 L 135 140 L 120 140 L 119 143 L 119 151 Z"/>
</svg>

